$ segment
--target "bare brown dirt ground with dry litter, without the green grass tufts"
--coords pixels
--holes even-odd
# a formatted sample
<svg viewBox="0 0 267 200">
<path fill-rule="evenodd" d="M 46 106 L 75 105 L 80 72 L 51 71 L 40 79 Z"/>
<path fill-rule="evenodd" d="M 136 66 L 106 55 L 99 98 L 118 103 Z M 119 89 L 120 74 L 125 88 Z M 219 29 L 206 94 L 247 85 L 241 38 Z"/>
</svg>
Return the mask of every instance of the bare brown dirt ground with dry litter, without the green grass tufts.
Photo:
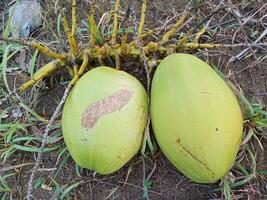
<svg viewBox="0 0 267 200">
<path fill-rule="evenodd" d="M 58 2 L 58 4 L 57 4 Z M 86 12 L 89 12 L 91 1 L 77 1 L 78 6 L 78 26 L 84 28 Z M 165 32 L 168 24 L 173 24 L 177 20 L 178 14 L 180 14 L 187 5 L 188 1 L 178 0 L 152 0 L 148 1 L 148 11 L 146 19 L 147 28 L 162 27 L 162 33 Z M 208 33 L 204 34 L 201 38 L 203 43 L 253 43 L 261 33 L 267 28 L 267 17 L 264 17 L 267 13 L 267 4 L 264 1 L 228 1 L 220 4 L 224 1 L 195 1 L 191 16 L 195 18 L 190 21 L 180 33 L 175 37 L 179 38 L 181 34 L 188 33 L 188 31 L 196 32 L 201 29 L 203 24 L 207 22 L 211 14 L 212 21 L 209 25 Z M 101 16 L 114 6 L 113 1 L 95 1 L 97 11 L 96 21 L 99 21 Z M 126 10 L 127 5 L 134 4 L 134 7 L 139 12 L 141 8 L 141 1 L 122 1 L 122 11 Z M 69 1 L 48 1 L 42 2 L 44 6 L 45 24 L 38 30 L 34 37 L 40 41 L 45 42 L 51 49 L 57 51 L 66 50 L 66 43 L 64 36 L 61 38 L 55 38 L 51 34 L 51 30 L 57 28 L 57 17 L 60 10 L 60 5 L 64 4 L 67 11 L 70 10 Z M 221 5 L 217 9 L 218 5 Z M 232 7 L 230 6 L 232 5 Z M 6 21 L 6 12 L 8 9 L 8 1 L 2 0 L 0 2 L 0 16 L 2 18 L 0 22 L 0 31 L 3 31 L 3 25 Z M 233 10 L 231 9 L 234 9 Z M 216 10 L 216 12 L 215 12 Z M 69 13 L 69 12 L 66 12 Z M 238 17 L 235 15 L 239 15 Z M 247 20 L 247 21 L 246 21 Z M 203 22 L 203 24 L 202 24 Z M 242 26 L 239 24 L 241 22 Z M 245 23 L 246 22 L 246 23 Z M 112 23 L 112 22 L 110 22 Z M 130 23 L 130 22 L 129 22 Z M 109 28 L 112 24 L 106 24 L 102 26 L 103 29 Z M 110 27 L 109 27 L 110 26 Z M 130 24 L 129 24 L 130 26 Z M 88 33 L 79 32 L 77 37 L 81 41 L 88 40 Z M 109 37 L 107 34 L 106 37 Z M 150 40 L 149 38 L 148 40 Z M 156 40 L 156 39 L 155 39 Z M 263 37 L 262 42 L 267 42 L 267 37 Z M 230 62 L 231 58 L 239 54 L 244 48 L 220 48 L 220 49 L 202 49 L 192 50 L 192 53 L 199 58 L 207 61 L 211 66 L 216 67 L 222 71 L 227 78 L 229 78 L 236 88 L 243 91 L 246 98 L 251 101 L 252 98 L 256 102 L 260 102 L 262 105 L 267 105 L 267 59 L 263 59 L 266 56 L 266 48 L 255 48 L 253 52 L 251 50 L 241 60 Z M 29 62 L 33 51 L 27 50 L 26 63 Z M 37 60 L 37 67 L 46 63 L 49 58 L 39 55 Z M 14 60 L 16 62 L 16 59 Z M 114 65 L 114 62 L 111 62 Z M 139 79 L 144 85 L 146 85 L 146 73 L 144 68 L 131 59 L 123 59 L 122 70 L 129 72 Z M 9 74 L 9 83 L 13 84 L 15 77 L 25 77 L 23 70 L 19 72 L 13 72 Z M 53 113 L 57 106 L 66 86 L 66 81 L 69 80 L 66 71 L 61 71 L 54 75 L 52 78 L 46 79 L 45 86 L 38 90 L 37 105 L 35 106 L 35 112 L 39 115 L 49 119 L 49 116 Z M 0 84 L 0 87 L 3 84 Z M 30 92 L 29 92 L 30 93 Z M 26 95 L 27 96 L 27 95 Z M 23 96 L 24 97 L 24 96 Z M 57 122 L 59 123 L 59 121 Z M 36 127 L 38 127 L 36 125 Z M 40 126 L 39 128 L 42 128 Z M 57 130 L 60 133 L 60 129 Z M 249 144 L 251 149 L 257 158 L 257 171 L 267 170 L 267 132 L 266 129 L 261 132 L 259 136 L 262 146 L 265 148 L 261 150 L 259 143 L 256 140 L 252 140 Z M 61 141 L 62 138 L 61 138 Z M 78 186 L 71 191 L 69 199 L 177 199 L 177 200 L 207 200 L 207 199 L 223 199 L 221 191 L 214 191 L 214 189 L 220 187 L 220 183 L 215 184 L 196 184 L 191 182 L 185 176 L 183 176 L 161 153 L 160 149 L 157 149 L 155 155 L 150 155 L 147 158 L 143 158 L 140 154 L 136 155 L 129 163 L 127 163 L 118 172 L 108 176 L 100 176 L 94 174 L 89 170 L 81 170 L 80 175 L 77 174 L 75 163 L 68 156 L 67 153 L 63 153 L 59 157 L 59 152 L 54 151 L 51 153 L 45 153 L 40 165 L 43 170 L 38 171 L 37 179 L 43 178 L 46 180 L 46 184 L 57 182 L 62 188 L 67 188 L 73 183 L 79 182 Z M 36 156 L 36 155 L 35 155 Z M 33 153 L 25 153 L 23 151 L 17 151 L 11 159 L 7 160 L 1 167 L 13 166 L 21 163 L 33 163 L 35 162 L 35 156 Z M 63 164 L 62 164 L 63 163 Z M 61 166 L 62 164 L 62 166 Z M 244 166 L 250 166 L 247 159 L 244 159 Z M 60 167 L 61 166 L 61 167 Z M 56 170 L 57 168 L 59 170 Z M 32 169 L 32 165 L 21 167 L 18 176 L 13 176 L 8 182 L 13 186 L 13 193 L 11 199 L 22 198 L 27 191 L 27 184 L 29 175 Z M 130 172 L 130 173 L 129 173 Z M 234 167 L 232 173 L 237 177 L 238 172 Z M 146 190 L 143 185 L 144 179 L 150 176 L 149 183 L 151 188 Z M 43 184 L 46 185 L 46 184 Z M 49 185 L 49 184 L 48 184 Z M 51 184 L 53 185 L 53 184 Z M 53 187 L 55 184 L 53 185 Z M 266 176 L 256 176 L 248 184 L 242 185 L 242 187 L 232 190 L 233 199 L 267 199 L 267 178 Z M 55 187 L 54 187 L 55 188 Z M 56 199 L 57 194 L 55 190 L 50 190 L 45 187 L 37 187 L 34 189 L 34 199 Z M 1 196 L 1 194 L 0 194 Z"/>
</svg>

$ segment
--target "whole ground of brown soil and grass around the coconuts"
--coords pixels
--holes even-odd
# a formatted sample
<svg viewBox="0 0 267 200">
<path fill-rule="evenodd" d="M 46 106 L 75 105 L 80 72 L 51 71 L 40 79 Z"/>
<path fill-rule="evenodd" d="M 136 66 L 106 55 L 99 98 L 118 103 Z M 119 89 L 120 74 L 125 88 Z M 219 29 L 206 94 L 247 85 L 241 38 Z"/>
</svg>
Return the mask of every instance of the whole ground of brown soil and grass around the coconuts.
<svg viewBox="0 0 267 200">
<path fill-rule="evenodd" d="M 123 15 L 130 3 L 134 3 L 137 11 L 141 8 L 141 1 L 121 2 L 120 15 Z M 149 1 L 146 27 L 162 27 L 163 34 L 168 29 L 168 25 L 177 20 L 177 16 L 184 10 L 187 2 Z M 84 0 L 77 2 L 79 14 L 77 37 L 83 41 L 83 44 L 80 44 L 83 46 L 86 45 L 89 38 L 85 14 L 90 10 L 90 3 L 96 5 L 97 22 L 114 7 L 114 1 L 89 2 Z M 43 6 L 45 22 L 33 37 L 51 49 L 64 51 L 67 48 L 66 40 L 62 28 L 60 29 L 57 22 L 59 21 L 57 13 L 63 6 L 67 10 L 66 13 L 70 13 L 68 12 L 70 11 L 70 2 L 45 0 Z M 3 32 L 4 24 L 7 21 L 8 7 L 8 1 L 0 2 L 0 32 Z M 266 11 L 266 3 L 260 0 L 229 1 L 227 3 L 216 0 L 196 0 L 190 13 L 190 17 L 194 18 L 175 37 L 179 38 L 188 31 L 196 32 L 201 29 L 213 14 L 208 32 L 202 36 L 201 42 L 253 43 L 266 31 Z M 132 26 L 133 24 L 129 22 L 129 28 Z M 103 20 L 100 28 L 104 37 L 108 38 L 112 30 L 112 20 Z M 266 38 L 266 36 L 263 37 L 262 42 L 266 42 Z M 4 49 L 1 51 L 1 47 L 0 59 L 3 62 Z M 232 62 L 231 58 L 238 55 L 243 49 L 244 47 L 201 49 L 188 53 L 198 56 L 221 71 L 239 92 L 243 92 L 249 102 L 255 102 L 265 107 L 267 103 L 267 49 L 266 47 L 253 48 L 240 60 Z M 3 75 L 0 79 L 0 99 L 7 94 L 4 74 L 7 74 L 10 88 L 17 87 L 32 71 L 29 67 L 32 58 L 35 58 L 34 51 L 27 49 L 24 53 L 17 53 L 9 59 L 5 68 L 3 64 L 0 65 L 0 72 Z M 44 55 L 38 55 L 35 68 L 40 68 L 49 60 Z M 114 66 L 113 61 L 109 61 L 107 64 Z M 140 64 L 137 64 L 136 60 L 124 59 L 122 70 L 134 75 L 146 85 L 145 70 Z M 45 120 L 51 117 L 57 107 L 69 79 L 66 71 L 60 71 L 52 78 L 47 78 L 43 84 L 20 95 L 19 100 L 13 98 L 0 107 L 0 196 L 3 199 L 22 199 L 26 194 L 29 176 L 37 155 L 36 151 L 40 145 L 40 137 L 46 125 Z M 245 106 L 243 106 L 243 114 L 246 116 L 244 108 Z M 20 128 L 20 125 L 24 127 Z M 267 132 L 266 129 L 259 130 L 259 127 L 257 130 L 259 132 L 256 134 L 258 139 L 252 137 L 241 146 L 237 161 L 231 169 L 230 180 L 232 182 L 239 183 L 240 180 L 244 180 L 237 187 L 232 188 L 233 199 L 267 199 L 267 153 L 265 148 Z M 60 119 L 55 122 L 50 136 L 52 138 L 47 146 L 47 150 L 50 151 L 44 153 L 34 182 L 34 199 L 206 200 L 227 198 L 226 193 L 230 191 L 227 190 L 226 184 L 223 185 L 220 182 L 214 184 L 191 182 L 166 159 L 159 148 L 155 155 L 148 153 L 145 158 L 139 153 L 122 169 L 111 175 L 94 174 L 92 171 L 80 169 L 71 159 L 61 135 Z M 20 142 L 16 141 L 16 138 L 20 138 Z M 23 148 L 25 146 L 30 149 Z M 252 152 L 252 156 L 248 153 L 249 151 Z M 256 163 L 253 162 L 253 159 L 256 159 Z M 253 167 L 256 167 L 255 173 L 253 173 Z M 247 181 L 247 178 L 250 177 L 252 179 Z M 147 181 L 144 181 L 145 179 Z"/>
</svg>

